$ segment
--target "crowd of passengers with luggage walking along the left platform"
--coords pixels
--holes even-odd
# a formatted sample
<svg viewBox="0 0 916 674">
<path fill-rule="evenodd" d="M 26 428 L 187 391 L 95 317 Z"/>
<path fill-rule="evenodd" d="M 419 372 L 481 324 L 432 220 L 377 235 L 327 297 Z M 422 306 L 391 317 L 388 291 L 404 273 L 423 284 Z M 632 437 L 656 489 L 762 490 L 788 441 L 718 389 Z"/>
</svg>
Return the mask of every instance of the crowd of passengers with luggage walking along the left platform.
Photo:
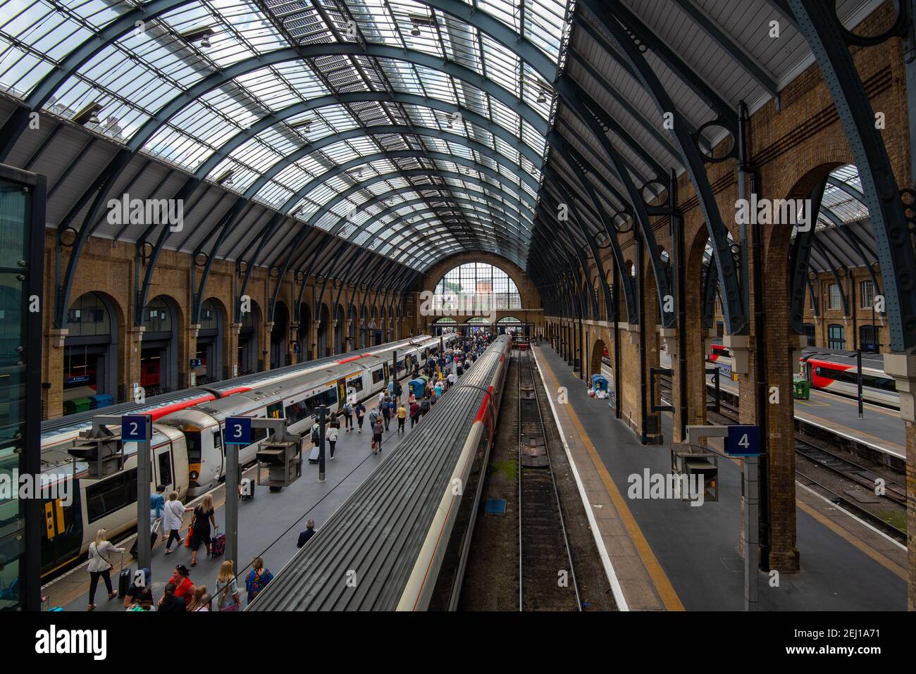
<svg viewBox="0 0 916 674">
<path fill-rule="evenodd" d="M 366 419 L 372 436 L 370 451 L 373 454 L 381 453 L 384 434 L 391 431 L 392 421 L 397 420 L 395 432 L 398 434 L 407 432 L 408 419 L 411 429 L 420 423 L 420 419 L 429 414 L 439 398 L 458 383 L 458 379 L 485 351 L 490 341 L 491 337 L 484 332 L 460 337 L 447 349 L 432 350 L 425 363 L 413 363 L 409 373 L 411 379 L 418 379 L 420 374 L 427 377 L 419 398 L 412 389 L 405 397 L 401 383 L 393 379 L 368 409 L 363 401 L 348 400 L 339 414 L 334 412 L 325 421 L 324 439 L 328 444 L 329 460 L 334 460 L 341 432 L 350 433 L 355 429 L 357 433 L 362 433 Z M 318 446 L 320 440 L 321 425 L 316 420 L 311 428 L 311 441 Z M 165 487 L 160 485 L 150 495 L 149 508 L 154 526 L 158 528 L 161 525 L 164 537 L 168 531 L 166 555 L 174 552 L 172 543 L 177 544 L 176 548 L 182 545 L 191 548 L 191 568 L 197 565 L 201 546 L 205 547 L 207 556 L 216 556 L 211 536 L 213 529 L 217 529 L 212 495 L 204 495 L 200 504 L 190 507 L 180 502 L 178 492 L 166 495 Z M 183 517 L 189 512 L 193 514 L 191 524 L 186 536 L 182 538 Z M 297 548 L 307 544 L 314 534 L 315 522 L 310 519 L 305 531 L 299 535 Z M 109 600 L 118 596 L 112 584 L 112 555 L 117 553 L 123 556 L 124 552 L 124 549 L 116 547 L 107 539 L 104 528 L 98 530 L 89 546 L 87 571 L 90 574 L 90 586 L 87 610 L 96 608 L 94 602 L 99 581 L 104 582 Z M 136 574 L 134 582 L 124 593 L 123 605 L 127 611 L 238 611 L 242 607 L 234 560 L 224 560 L 220 565 L 213 592 L 206 585 L 193 582 L 191 570 L 185 564 L 178 564 L 157 600 L 152 589 L 151 575 L 149 569 L 142 569 Z M 273 574 L 267 570 L 263 559 L 256 557 L 252 560 L 251 570 L 245 575 L 247 603 L 254 601 L 258 592 L 272 579 Z"/>
</svg>

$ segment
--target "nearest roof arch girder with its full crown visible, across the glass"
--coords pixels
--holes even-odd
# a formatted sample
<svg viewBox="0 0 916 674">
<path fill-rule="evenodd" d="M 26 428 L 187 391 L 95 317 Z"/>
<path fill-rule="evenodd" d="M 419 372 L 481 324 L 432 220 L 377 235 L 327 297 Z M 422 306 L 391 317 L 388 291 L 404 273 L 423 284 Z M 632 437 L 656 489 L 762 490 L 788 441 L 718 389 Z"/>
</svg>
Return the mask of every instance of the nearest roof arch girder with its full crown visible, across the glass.
<svg viewBox="0 0 916 674">
<path fill-rule="evenodd" d="M 359 45 L 353 42 L 335 42 L 266 51 L 257 56 L 237 61 L 230 66 L 226 66 L 221 71 L 208 75 L 162 105 L 130 138 L 127 142 L 127 147 L 132 151 L 144 147 L 148 139 L 157 133 L 161 125 L 165 124 L 175 114 L 178 114 L 188 104 L 193 103 L 202 95 L 213 91 L 213 89 L 233 81 L 237 77 L 292 60 L 318 59 L 324 56 L 364 56 L 375 59 L 400 60 L 434 71 L 442 71 L 493 96 L 499 103 L 506 105 L 528 122 L 541 136 L 546 136 L 550 130 L 548 120 L 541 117 L 538 111 L 528 103 L 525 103 L 514 93 L 493 80 L 488 80 L 470 68 L 459 65 L 454 61 L 442 60 L 437 56 L 416 49 L 399 49 L 372 43 Z"/>
</svg>

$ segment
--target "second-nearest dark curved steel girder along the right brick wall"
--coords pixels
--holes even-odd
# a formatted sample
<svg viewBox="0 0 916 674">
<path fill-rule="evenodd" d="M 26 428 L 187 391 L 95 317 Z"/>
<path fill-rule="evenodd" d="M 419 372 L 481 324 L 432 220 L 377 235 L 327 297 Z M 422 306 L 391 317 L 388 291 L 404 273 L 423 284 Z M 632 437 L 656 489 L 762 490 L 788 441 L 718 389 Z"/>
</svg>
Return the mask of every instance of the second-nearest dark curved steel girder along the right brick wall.
<svg viewBox="0 0 916 674">
<path fill-rule="evenodd" d="M 594 16 L 597 16 L 601 20 L 602 24 L 607 28 L 610 37 L 614 40 L 617 48 L 626 55 L 630 65 L 634 71 L 638 73 L 639 83 L 642 85 L 643 89 L 649 93 L 649 96 L 659 110 L 659 114 L 664 115 L 666 112 L 673 110 L 674 103 L 671 101 L 671 96 L 669 96 L 668 92 L 665 91 L 665 88 L 662 86 L 658 75 L 652 70 L 649 62 L 642 55 L 637 45 L 627 35 L 627 30 L 616 20 L 617 18 L 625 20 L 625 17 L 632 17 L 629 11 L 626 8 L 621 8 L 620 5 L 622 5 L 622 3 L 618 2 L 618 0 L 609 0 L 606 3 L 607 6 L 599 6 L 595 0 L 583 0 L 583 2 L 588 5 Z M 612 6 L 614 7 L 613 14 L 610 11 L 610 7 Z M 620 10 L 619 14 L 617 13 L 618 9 Z M 634 32 L 637 32 L 630 19 L 626 18 L 626 20 L 627 26 Z M 660 47 L 658 45 L 658 40 L 640 39 L 643 45 L 652 45 L 653 53 L 663 58 L 663 53 L 666 48 Z M 733 133 L 735 137 L 737 137 L 737 117 L 735 111 L 730 111 L 731 114 L 728 114 L 729 111 L 727 111 L 727 109 L 718 110 L 714 107 L 714 110 L 719 114 L 719 122 L 733 129 Z M 729 334 L 745 333 L 749 326 L 744 310 L 739 275 L 736 269 L 735 260 L 732 257 L 728 245 L 728 229 L 725 227 L 722 215 L 719 212 L 718 204 L 715 201 L 713 188 L 709 183 L 709 178 L 703 166 L 703 157 L 699 149 L 697 149 L 694 138 L 687 128 L 686 120 L 683 119 L 683 116 L 681 114 L 673 115 L 672 123 L 674 126 L 673 131 L 677 147 L 681 151 L 681 156 L 684 159 L 684 166 L 691 178 L 693 190 L 698 197 L 699 205 L 703 212 L 706 228 L 709 230 L 709 238 L 713 242 L 713 253 L 716 266 L 718 266 L 718 276 L 725 291 L 723 312 L 725 313 L 725 323 L 727 324 L 728 332 Z"/>
</svg>

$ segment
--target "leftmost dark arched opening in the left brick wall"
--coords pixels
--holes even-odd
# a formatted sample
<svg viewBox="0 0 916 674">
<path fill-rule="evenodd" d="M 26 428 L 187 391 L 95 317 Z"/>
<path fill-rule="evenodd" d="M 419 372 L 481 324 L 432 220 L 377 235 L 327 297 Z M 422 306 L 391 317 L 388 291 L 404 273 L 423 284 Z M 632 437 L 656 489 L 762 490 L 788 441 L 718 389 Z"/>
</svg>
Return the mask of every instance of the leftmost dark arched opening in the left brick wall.
<svg viewBox="0 0 916 674">
<path fill-rule="evenodd" d="M 5 316 L 5 321 L 13 317 Z M 63 413 L 104 408 L 117 398 L 118 325 L 112 300 L 87 292 L 67 313 L 63 353 Z"/>
</svg>

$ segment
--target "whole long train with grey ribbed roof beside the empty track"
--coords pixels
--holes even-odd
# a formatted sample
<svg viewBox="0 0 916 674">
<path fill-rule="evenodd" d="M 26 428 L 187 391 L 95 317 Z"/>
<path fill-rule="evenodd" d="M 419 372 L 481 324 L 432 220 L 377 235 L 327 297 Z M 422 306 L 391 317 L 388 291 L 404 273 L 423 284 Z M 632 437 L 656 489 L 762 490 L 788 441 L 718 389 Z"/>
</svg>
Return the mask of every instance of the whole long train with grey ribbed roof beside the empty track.
<svg viewBox="0 0 916 674">
<path fill-rule="evenodd" d="M 454 610 L 511 349 L 497 337 L 246 610 Z"/>
</svg>

